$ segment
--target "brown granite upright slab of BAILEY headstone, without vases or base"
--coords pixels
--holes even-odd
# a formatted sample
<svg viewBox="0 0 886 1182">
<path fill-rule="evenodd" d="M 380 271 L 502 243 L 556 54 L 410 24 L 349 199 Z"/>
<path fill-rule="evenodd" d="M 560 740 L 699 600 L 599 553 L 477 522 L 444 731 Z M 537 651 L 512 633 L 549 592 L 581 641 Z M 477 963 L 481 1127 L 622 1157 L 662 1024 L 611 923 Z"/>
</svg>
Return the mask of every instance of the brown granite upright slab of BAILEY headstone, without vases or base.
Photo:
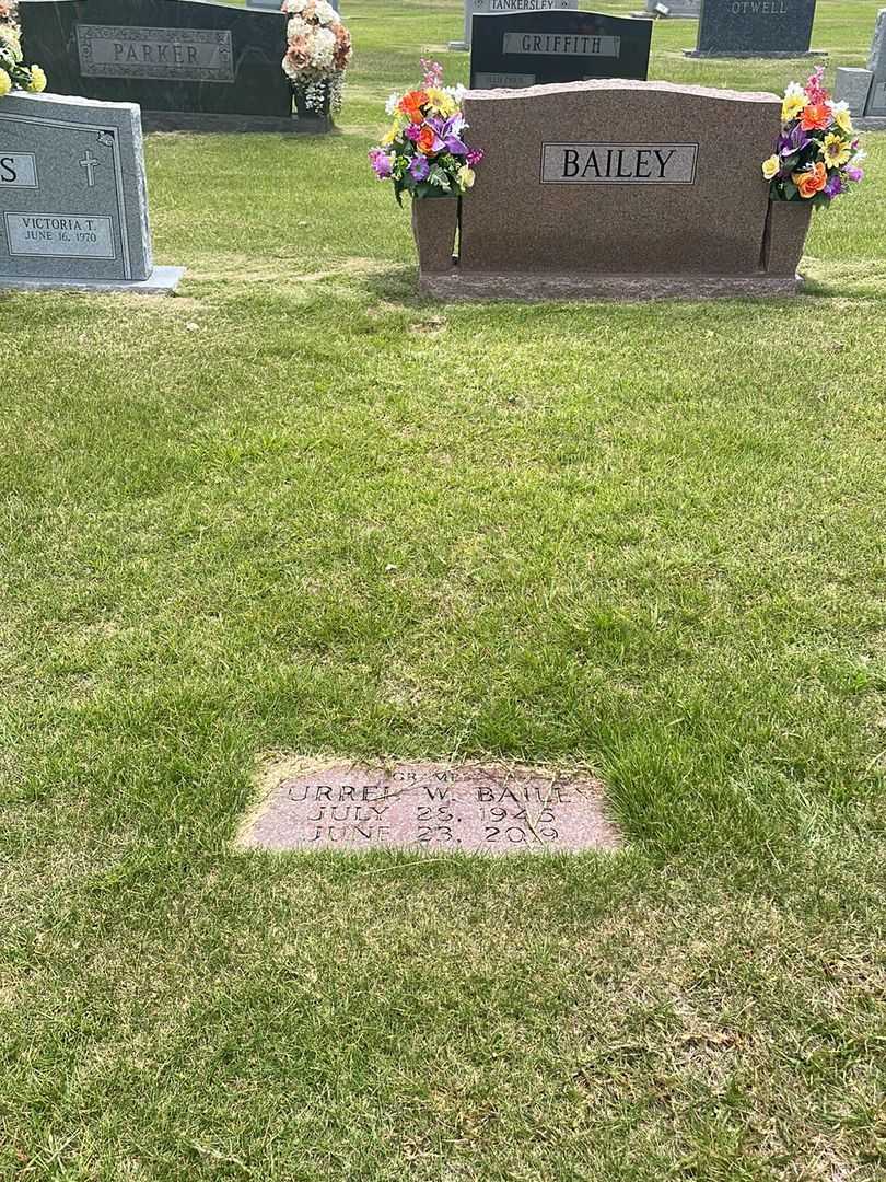
<svg viewBox="0 0 886 1182">
<path fill-rule="evenodd" d="M 761 269 L 777 96 L 611 79 L 473 91 L 464 113 L 486 157 L 462 277 Z"/>
</svg>

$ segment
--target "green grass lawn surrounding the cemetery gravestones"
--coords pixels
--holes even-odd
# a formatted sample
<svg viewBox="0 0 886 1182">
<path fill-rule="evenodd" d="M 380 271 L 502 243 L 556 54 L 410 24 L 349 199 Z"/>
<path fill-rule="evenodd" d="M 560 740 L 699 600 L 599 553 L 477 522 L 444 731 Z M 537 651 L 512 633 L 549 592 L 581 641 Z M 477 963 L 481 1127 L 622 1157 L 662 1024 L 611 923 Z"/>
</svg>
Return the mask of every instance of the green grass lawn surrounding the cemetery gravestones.
<svg viewBox="0 0 886 1182">
<path fill-rule="evenodd" d="M 461 5 L 343 4 L 340 134 L 149 138 L 180 298 L 0 300 L 0 1178 L 875 1182 L 886 137 L 795 300 L 437 305 L 365 151 Z M 235 852 L 273 751 L 626 846 Z"/>
</svg>

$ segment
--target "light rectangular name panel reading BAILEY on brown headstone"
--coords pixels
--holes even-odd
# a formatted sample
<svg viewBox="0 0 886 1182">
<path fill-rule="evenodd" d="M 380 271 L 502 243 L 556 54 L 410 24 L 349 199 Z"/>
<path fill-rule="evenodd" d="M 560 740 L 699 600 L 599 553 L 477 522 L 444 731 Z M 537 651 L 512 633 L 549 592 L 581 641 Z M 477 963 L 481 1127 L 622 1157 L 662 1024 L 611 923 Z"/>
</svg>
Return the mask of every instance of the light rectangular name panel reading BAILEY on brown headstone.
<svg viewBox="0 0 886 1182">
<path fill-rule="evenodd" d="M 698 144 L 543 143 L 542 184 L 695 184 Z"/>
</svg>

